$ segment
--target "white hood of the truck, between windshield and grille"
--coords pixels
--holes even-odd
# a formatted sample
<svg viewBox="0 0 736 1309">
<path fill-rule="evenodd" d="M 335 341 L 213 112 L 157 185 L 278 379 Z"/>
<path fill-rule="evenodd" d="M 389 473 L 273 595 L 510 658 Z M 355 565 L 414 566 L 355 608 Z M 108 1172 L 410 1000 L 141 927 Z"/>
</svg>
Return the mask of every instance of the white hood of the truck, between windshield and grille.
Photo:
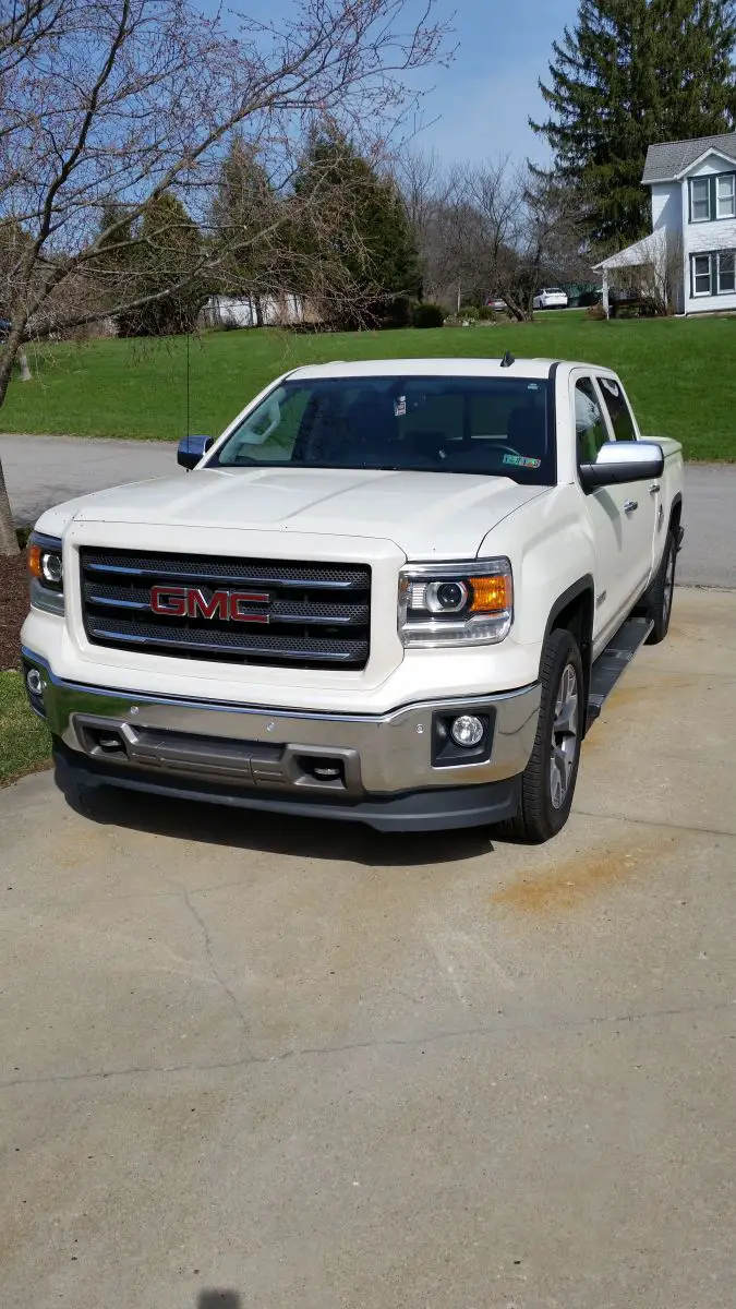
<svg viewBox="0 0 736 1309">
<path fill-rule="evenodd" d="M 491 528 L 547 487 L 509 478 L 363 469 L 200 469 L 100 491 L 48 511 L 76 522 L 381 537 L 407 558 L 473 558 Z M 183 538 L 182 538 L 183 539 Z"/>
</svg>

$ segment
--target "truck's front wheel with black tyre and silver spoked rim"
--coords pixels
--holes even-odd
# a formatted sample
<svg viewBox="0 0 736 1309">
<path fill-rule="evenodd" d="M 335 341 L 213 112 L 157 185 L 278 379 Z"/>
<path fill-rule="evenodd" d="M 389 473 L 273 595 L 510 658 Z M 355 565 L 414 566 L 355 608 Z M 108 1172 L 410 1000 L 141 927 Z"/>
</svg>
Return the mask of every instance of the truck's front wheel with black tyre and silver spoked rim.
<svg viewBox="0 0 736 1309">
<path fill-rule="evenodd" d="M 532 758 L 521 779 L 521 800 L 506 831 L 541 844 L 564 827 L 580 763 L 585 721 L 583 661 L 575 637 L 551 632 L 542 654 L 542 699 Z"/>
</svg>

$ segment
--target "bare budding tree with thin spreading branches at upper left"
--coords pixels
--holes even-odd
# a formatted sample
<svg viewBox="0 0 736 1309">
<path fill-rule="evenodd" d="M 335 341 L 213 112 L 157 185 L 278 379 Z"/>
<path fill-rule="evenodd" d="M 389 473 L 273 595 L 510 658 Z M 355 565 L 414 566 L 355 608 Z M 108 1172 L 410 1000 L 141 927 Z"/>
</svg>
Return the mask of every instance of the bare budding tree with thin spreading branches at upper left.
<svg viewBox="0 0 736 1309">
<path fill-rule="evenodd" d="M 186 270 L 161 258 L 162 284 L 141 291 L 139 229 L 172 190 L 204 223 L 236 128 L 278 179 L 283 208 L 266 209 L 248 241 L 265 251 L 263 281 L 283 291 L 284 242 L 299 219 L 291 179 L 310 124 L 331 117 L 355 139 L 371 124 L 385 141 L 416 98 L 413 69 L 444 58 L 433 3 L 413 22 L 410 0 L 292 0 L 279 21 L 236 14 L 233 35 L 190 0 L 0 0 L 0 313 L 10 322 L 0 404 L 34 336 L 217 275 L 227 240 L 220 233 L 215 250 L 204 233 Z M 111 198 L 119 213 L 101 224 Z M 316 215 L 318 188 L 310 203 Z M 330 272 L 347 295 L 335 258 Z M 3 483 L 0 524 L 7 550 Z"/>
</svg>

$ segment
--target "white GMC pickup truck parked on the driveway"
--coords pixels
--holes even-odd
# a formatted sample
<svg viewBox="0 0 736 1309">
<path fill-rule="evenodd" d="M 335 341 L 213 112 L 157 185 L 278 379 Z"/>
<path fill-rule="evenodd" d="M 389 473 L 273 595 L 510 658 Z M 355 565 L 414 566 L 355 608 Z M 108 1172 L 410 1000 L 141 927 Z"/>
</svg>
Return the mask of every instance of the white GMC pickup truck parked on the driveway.
<svg viewBox="0 0 736 1309">
<path fill-rule="evenodd" d="M 681 448 L 610 369 L 297 368 L 178 462 L 31 538 L 22 657 L 63 785 L 561 830 L 682 537 Z"/>
</svg>

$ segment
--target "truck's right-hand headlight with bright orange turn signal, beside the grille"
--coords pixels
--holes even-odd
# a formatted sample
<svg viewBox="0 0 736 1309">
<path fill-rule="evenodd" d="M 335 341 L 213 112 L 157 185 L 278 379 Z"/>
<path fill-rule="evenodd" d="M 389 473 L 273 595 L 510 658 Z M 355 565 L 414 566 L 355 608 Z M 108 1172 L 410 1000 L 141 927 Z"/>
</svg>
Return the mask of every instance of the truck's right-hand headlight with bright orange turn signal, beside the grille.
<svg viewBox="0 0 736 1309">
<path fill-rule="evenodd" d="M 415 564 L 398 584 L 398 634 L 403 645 L 495 644 L 513 619 L 508 559 Z"/>
</svg>

